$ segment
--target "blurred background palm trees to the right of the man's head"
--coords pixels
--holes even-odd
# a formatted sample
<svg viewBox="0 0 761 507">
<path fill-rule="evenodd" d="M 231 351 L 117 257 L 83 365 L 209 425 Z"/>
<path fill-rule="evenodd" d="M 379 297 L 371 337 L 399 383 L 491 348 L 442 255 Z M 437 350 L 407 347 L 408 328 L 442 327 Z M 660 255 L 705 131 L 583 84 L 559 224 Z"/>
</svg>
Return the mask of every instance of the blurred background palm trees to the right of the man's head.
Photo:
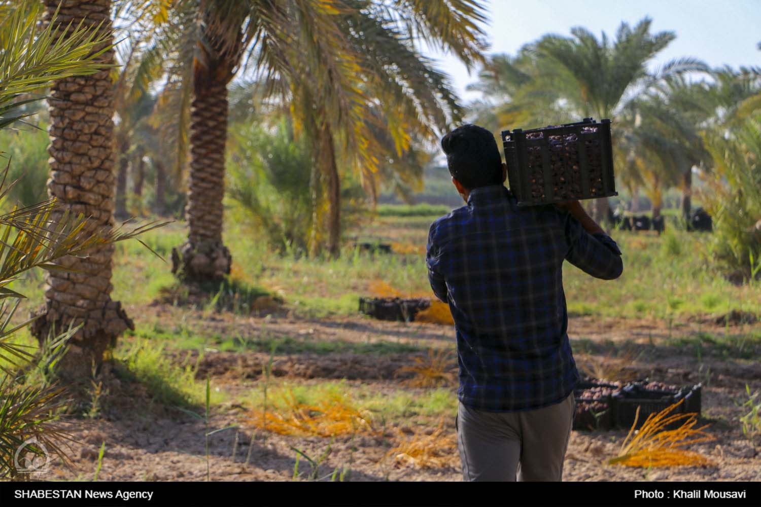
<svg viewBox="0 0 761 507">
<path fill-rule="evenodd" d="M 572 36 L 543 36 L 517 55 L 492 55 L 470 86 L 483 95 L 473 107 L 475 121 L 500 132 L 612 119 L 616 179 L 632 206 L 642 190 L 657 217 L 664 191 L 677 187 L 686 219 L 697 172 L 707 183 L 701 201 L 715 219 L 715 258 L 740 280 L 755 277 L 761 68 L 712 69 L 685 57 L 648 71 L 648 62 L 676 38 L 651 33 L 650 26 L 648 18 L 633 27 L 622 23 L 613 39 L 575 27 Z M 607 209 L 607 198 L 596 199 L 593 216 L 605 220 Z"/>
</svg>

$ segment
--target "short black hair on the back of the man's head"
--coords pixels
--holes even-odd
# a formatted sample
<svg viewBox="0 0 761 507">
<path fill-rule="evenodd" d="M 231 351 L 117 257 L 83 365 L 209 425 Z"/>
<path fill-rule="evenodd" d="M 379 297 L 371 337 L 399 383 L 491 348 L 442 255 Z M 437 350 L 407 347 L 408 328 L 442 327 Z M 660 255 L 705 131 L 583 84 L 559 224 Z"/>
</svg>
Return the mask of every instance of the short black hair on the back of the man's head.
<svg viewBox="0 0 761 507">
<path fill-rule="evenodd" d="M 502 184 L 502 159 L 492 132 L 463 125 L 441 138 L 449 173 L 468 190 Z"/>
</svg>

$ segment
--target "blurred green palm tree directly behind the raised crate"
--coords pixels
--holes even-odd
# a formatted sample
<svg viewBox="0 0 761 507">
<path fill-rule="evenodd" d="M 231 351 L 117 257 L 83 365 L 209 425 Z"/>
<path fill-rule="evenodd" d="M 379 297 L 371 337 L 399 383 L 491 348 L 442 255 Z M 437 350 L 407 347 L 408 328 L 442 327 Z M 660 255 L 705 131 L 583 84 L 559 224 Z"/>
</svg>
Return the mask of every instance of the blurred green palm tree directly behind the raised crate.
<svg viewBox="0 0 761 507">
<path fill-rule="evenodd" d="M 654 73 L 648 71 L 648 62 L 676 38 L 673 32 L 651 33 L 650 27 L 648 17 L 634 27 L 622 22 L 613 40 L 606 33 L 598 39 L 589 30 L 574 27 L 571 37 L 543 36 L 508 61 L 510 65 L 494 65 L 491 72 L 486 68 L 487 76 L 499 71 L 492 82 L 504 77 L 514 87 L 511 100 L 501 108 L 501 119 L 547 123 L 548 114 L 558 115 L 553 123 L 587 116 L 610 118 L 615 147 L 624 134 L 617 119 L 638 93 L 671 75 L 708 70 L 697 59 L 681 58 Z M 488 89 L 489 81 L 483 85 Z M 629 164 L 619 169 L 635 167 Z M 607 199 L 595 201 L 597 220 L 606 216 L 607 209 Z"/>
</svg>

